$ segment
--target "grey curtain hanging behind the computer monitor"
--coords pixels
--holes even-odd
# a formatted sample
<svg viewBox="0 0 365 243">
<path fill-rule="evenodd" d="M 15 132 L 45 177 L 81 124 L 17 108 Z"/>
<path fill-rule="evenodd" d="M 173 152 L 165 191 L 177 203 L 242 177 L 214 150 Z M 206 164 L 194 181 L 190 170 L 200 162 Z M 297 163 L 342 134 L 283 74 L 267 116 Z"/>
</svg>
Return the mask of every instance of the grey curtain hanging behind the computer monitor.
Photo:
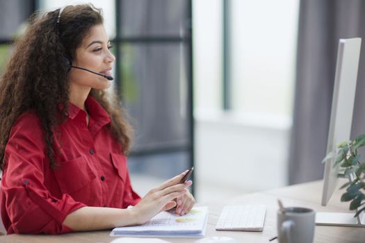
<svg viewBox="0 0 365 243">
<path fill-rule="evenodd" d="M 298 28 L 289 184 L 323 178 L 337 47 L 362 37 L 351 139 L 365 133 L 365 1 L 302 0 Z"/>
</svg>

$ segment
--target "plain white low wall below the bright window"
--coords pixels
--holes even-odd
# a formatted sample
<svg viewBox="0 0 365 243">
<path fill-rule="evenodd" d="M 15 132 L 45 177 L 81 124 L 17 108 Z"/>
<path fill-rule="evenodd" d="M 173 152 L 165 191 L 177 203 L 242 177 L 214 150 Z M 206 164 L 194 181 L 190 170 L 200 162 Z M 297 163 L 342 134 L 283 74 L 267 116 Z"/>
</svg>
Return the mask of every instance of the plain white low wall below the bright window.
<svg viewBox="0 0 365 243">
<path fill-rule="evenodd" d="M 196 183 L 242 192 L 286 185 L 290 119 L 223 112 L 195 117 Z"/>
</svg>

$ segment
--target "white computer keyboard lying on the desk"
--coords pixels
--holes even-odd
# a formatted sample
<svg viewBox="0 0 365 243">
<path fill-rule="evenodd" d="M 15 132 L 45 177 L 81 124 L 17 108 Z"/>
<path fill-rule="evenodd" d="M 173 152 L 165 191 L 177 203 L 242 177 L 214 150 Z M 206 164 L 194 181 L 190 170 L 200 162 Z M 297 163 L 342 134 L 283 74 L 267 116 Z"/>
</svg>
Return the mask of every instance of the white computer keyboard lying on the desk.
<svg viewBox="0 0 365 243">
<path fill-rule="evenodd" d="M 217 231 L 262 231 L 266 206 L 225 206 L 216 225 Z"/>
</svg>

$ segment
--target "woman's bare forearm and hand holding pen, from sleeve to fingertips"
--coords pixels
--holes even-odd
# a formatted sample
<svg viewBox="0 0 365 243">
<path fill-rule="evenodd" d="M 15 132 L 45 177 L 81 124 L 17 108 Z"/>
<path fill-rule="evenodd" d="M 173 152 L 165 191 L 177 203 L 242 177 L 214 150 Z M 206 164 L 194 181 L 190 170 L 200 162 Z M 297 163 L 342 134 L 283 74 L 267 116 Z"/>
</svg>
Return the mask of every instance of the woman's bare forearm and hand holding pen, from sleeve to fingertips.
<svg viewBox="0 0 365 243">
<path fill-rule="evenodd" d="M 188 192 L 192 182 L 179 183 L 187 171 L 150 190 L 133 208 L 83 207 L 71 212 L 63 224 L 74 231 L 96 231 L 120 226 L 144 224 L 154 215 L 176 206 L 172 201 Z"/>
</svg>

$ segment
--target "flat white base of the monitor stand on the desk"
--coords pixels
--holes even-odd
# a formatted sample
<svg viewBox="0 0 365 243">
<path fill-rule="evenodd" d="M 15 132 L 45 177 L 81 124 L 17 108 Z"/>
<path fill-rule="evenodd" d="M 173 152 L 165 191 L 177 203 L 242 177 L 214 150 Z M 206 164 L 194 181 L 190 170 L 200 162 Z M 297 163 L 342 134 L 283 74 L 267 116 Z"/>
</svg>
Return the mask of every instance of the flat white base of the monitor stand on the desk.
<svg viewBox="0 0 365 243">
<path fill-rule="evenodd" d="M 354 215 L 355 212 L 316 212 L 316 225 L 365 227 L 364 211 Z"/>
</svg>

